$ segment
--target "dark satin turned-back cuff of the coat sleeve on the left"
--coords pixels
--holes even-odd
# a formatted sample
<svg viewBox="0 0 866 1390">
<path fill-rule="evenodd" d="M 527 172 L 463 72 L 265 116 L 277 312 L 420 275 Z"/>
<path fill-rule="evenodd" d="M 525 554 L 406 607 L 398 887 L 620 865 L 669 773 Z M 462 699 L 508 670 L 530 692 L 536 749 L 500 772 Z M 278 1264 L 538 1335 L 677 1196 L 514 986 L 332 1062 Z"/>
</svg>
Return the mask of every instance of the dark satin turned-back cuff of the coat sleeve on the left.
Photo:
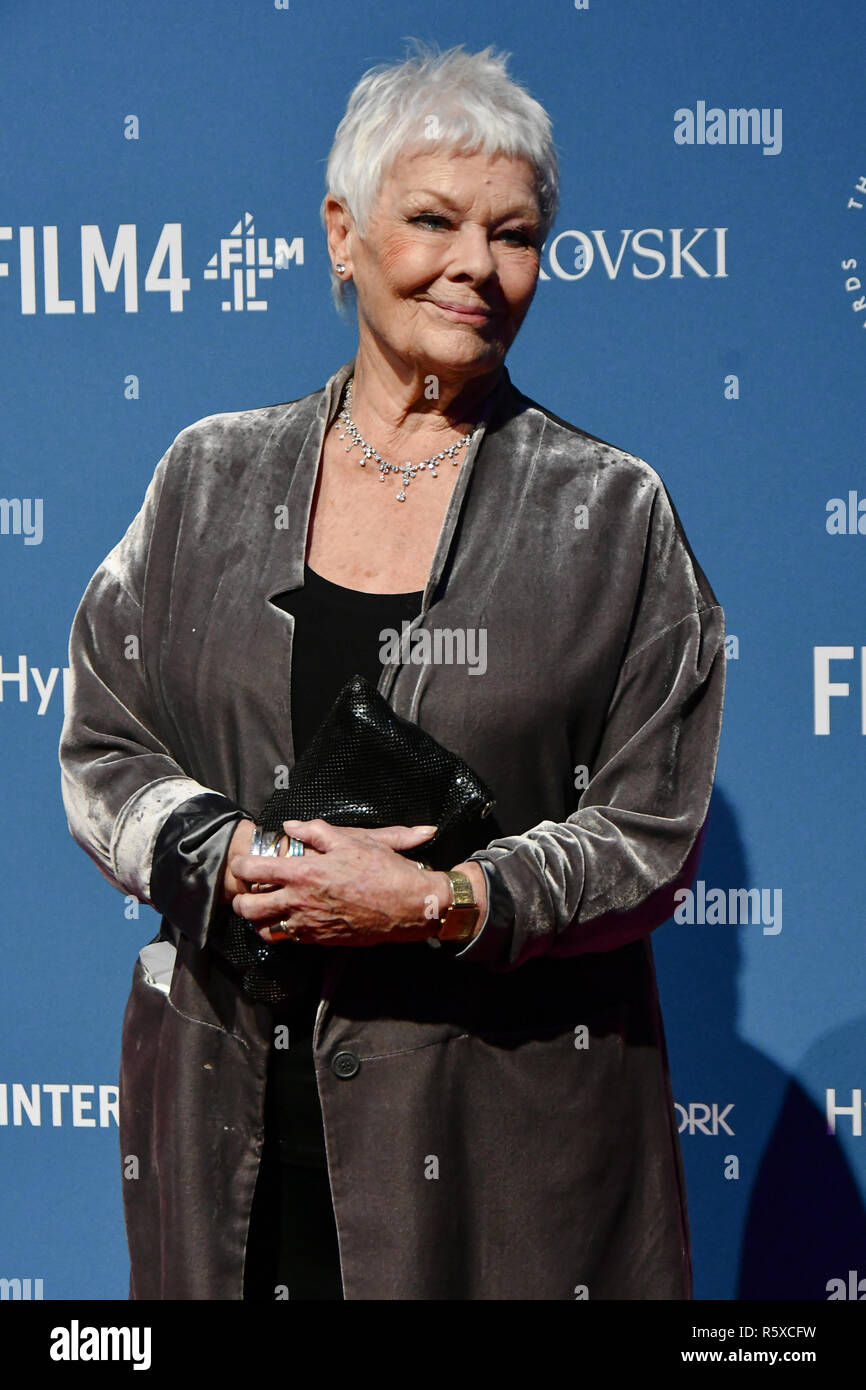
<svg viewBox="0 0 866 1390">
<path fill-rule="evenodd" d="M 195 945 L 207 942 L 221 903 L 228 848 L 239 820 L 254 817 L 218 792 L 202 792 L 168 816 L 150 870 L 153 906 Z"/>
</svg>

